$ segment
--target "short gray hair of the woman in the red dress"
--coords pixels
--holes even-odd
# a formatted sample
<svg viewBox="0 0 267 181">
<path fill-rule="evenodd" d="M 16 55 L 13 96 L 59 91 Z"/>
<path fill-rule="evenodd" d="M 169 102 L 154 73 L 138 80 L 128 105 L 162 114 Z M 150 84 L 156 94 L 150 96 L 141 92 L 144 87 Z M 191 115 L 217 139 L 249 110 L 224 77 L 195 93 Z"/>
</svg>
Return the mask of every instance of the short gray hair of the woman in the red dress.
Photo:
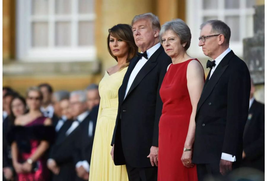
<svg viewBox="0 0 267 181">
<path fill-rule="evenodd" d="M 187 51 L 187 49 L 190 47 L 190 43 L 191 43 L 191 32 L 190 32 L 190 28 L 187 26 L 187 24 L 181 19 L 174 19 L 174 20 L 166 22 L 164 25 L 162 25 L 161 30 L 160 30 L 160 34 L 159 34 L 159 38 L 160 38 L 161 43 L 162 43 L 162 41 L 161 41 L 162 35 L 167 30 L 174 31 L 174 33 L 176 33 L 179 36 L 179 38 L 181 40 L 181 44 L 186 43 L 185 51 Z"/>
</svg>

